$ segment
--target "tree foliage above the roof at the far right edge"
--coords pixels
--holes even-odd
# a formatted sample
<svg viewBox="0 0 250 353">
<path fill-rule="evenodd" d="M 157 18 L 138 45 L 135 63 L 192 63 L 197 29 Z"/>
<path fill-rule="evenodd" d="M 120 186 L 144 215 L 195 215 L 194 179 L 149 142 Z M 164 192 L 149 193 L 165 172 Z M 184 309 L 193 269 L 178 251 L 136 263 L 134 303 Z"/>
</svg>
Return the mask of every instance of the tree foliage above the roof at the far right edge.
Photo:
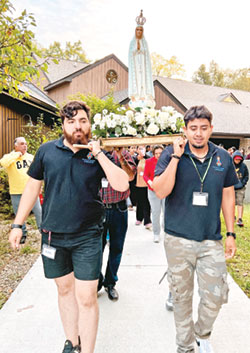
<svg viewBox="0 0 250 353">
<path fill-rule="evenodd" d="M 202 64 L 193 75 L 193 81 L 205 85 L 250 91 L 250 69 L 222 69 L 211 61 L 209 69 Z"/>
</svg>

